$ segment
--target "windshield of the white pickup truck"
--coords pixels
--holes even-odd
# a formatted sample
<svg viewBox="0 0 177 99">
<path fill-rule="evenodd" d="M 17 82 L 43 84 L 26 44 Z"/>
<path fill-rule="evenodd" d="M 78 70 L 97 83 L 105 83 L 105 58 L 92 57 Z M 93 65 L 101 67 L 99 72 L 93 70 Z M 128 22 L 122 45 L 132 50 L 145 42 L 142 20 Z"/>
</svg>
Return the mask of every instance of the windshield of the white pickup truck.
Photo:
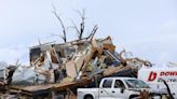
<svg viewBox="0 0 177 99">
<path fill-rule="evenodd" d="M 128 88 L 149 88 L 149 86 L 140 80 L 125 80 Z"/>
</svg>

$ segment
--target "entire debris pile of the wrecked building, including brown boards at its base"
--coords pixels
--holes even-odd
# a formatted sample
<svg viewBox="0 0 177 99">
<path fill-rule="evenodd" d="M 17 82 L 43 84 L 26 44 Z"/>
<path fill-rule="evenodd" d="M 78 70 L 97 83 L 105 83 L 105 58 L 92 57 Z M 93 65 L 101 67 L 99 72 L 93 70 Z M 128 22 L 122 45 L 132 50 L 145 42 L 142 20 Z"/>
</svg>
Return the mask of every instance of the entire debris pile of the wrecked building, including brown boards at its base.
<svg viewBox="0 0 177 99">
<path fill-rule="evenodd" d="M 1 79 L 5 82 L 0 84 L 8 85 L 13 93 L 15 89 L 24 90 L 23 94 L 33 96 L 40 90 L 60 91 L 77 86 L 96 86 L 105 76 L 136 77 L 138 69 L 152 66 L 136 57 L 125 58 L 125 51 L 115 52 L 110 37 L 40 44 L 30 47 L 30 66 L 2 69 L 4 74 Z"/>
</svg>

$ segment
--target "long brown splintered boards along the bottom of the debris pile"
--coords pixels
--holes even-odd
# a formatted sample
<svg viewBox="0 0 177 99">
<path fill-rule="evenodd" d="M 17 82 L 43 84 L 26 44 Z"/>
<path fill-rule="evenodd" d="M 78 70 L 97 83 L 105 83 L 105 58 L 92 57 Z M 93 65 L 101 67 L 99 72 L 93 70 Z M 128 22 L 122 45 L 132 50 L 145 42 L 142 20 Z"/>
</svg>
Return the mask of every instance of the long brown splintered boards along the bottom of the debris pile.
<svg viewBox="0 0 177 99">
<path fill-rule="evenodd" d="M 91 82 L 91 79 L 82 79 L 74 82 L 55 83 L 55 84 L 43 84 L 32 86 L 11 86 L 11 93 L 21 93 L 28 96 L 38 96 L 49 94 L 50 91 L 66 90 L 70 87 L 83 86 Z"/>
</svg>

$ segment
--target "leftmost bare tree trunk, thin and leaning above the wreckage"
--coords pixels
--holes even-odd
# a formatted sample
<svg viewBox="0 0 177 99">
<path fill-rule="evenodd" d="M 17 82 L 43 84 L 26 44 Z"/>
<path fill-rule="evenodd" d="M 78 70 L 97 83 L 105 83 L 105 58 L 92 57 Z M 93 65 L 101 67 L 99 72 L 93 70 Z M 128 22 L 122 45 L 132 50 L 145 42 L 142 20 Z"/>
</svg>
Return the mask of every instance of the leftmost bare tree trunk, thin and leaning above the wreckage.
<svg viewBox="0 0 177 99">
<path fill-rule="evenodd" d="M 66 43 L 67 42 L 67 37 L 66 37 L 66 28 L 64 26 L 64 23 L 62 20 L 62 18 L 59 17 L 59 15 L 56 13 L 56 9 L 55 6 L 53 5 L 53 9 L 54 11 L 52 11 L 52 13 L 56 16 L 56 18 L 59 20 L 60 25 L 62 25 L 62 28 L 63 28 L 63 36 L 60 36 L 60 38 L 64 40 L 64 42 Z"/>
</svg>

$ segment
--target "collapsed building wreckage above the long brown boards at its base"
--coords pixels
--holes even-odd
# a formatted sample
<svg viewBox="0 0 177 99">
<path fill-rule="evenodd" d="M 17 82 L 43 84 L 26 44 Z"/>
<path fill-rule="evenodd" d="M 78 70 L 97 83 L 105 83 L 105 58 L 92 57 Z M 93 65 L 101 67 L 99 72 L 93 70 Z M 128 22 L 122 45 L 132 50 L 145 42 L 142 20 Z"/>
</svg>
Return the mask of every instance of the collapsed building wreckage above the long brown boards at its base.
<svg viewBox="0 0 177 99">
<path fill-rule="evenodd" d="M 21 67 L 23 71 L 17 68 L 13 74 L 12 83 L 19 83 L 18 79 L 29 76 L 22 75 L 27 72 L 31 76 L 22 80 L 23 84 L 28 83 L 28 80 L 31 84 L 45 84 L 62 82 L 66 77 L 72 82 L 84 76 L 93 77 L 96 74 L 109 76 L 120 73 L 121 69 L 127 71 L 120 73 L 120 75 L 136 76 L 136 69 L 142 67 L 137 61 L 144 63 L 138 58 L 127 59 L 127 61 L 121 59 L 110 37 L 91 42 L 82 40 L 65 44 L 38 45 L 30 48 L 30 67 Z"/>
</svg>

